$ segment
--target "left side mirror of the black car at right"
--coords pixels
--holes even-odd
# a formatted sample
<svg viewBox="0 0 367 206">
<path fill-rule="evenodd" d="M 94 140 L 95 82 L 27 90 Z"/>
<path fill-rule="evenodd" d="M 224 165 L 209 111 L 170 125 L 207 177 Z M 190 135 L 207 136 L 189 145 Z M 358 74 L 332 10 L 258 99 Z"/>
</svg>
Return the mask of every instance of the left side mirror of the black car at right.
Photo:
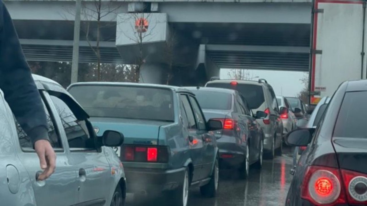
<svg viewBox="0 0 367 206">
<path fill-rule="evenodd" d="M 296 129 L 288 133 L 285 140 L 289 146 L 306 147 L 311 142 L 314 128 Z"/>
</svg>

